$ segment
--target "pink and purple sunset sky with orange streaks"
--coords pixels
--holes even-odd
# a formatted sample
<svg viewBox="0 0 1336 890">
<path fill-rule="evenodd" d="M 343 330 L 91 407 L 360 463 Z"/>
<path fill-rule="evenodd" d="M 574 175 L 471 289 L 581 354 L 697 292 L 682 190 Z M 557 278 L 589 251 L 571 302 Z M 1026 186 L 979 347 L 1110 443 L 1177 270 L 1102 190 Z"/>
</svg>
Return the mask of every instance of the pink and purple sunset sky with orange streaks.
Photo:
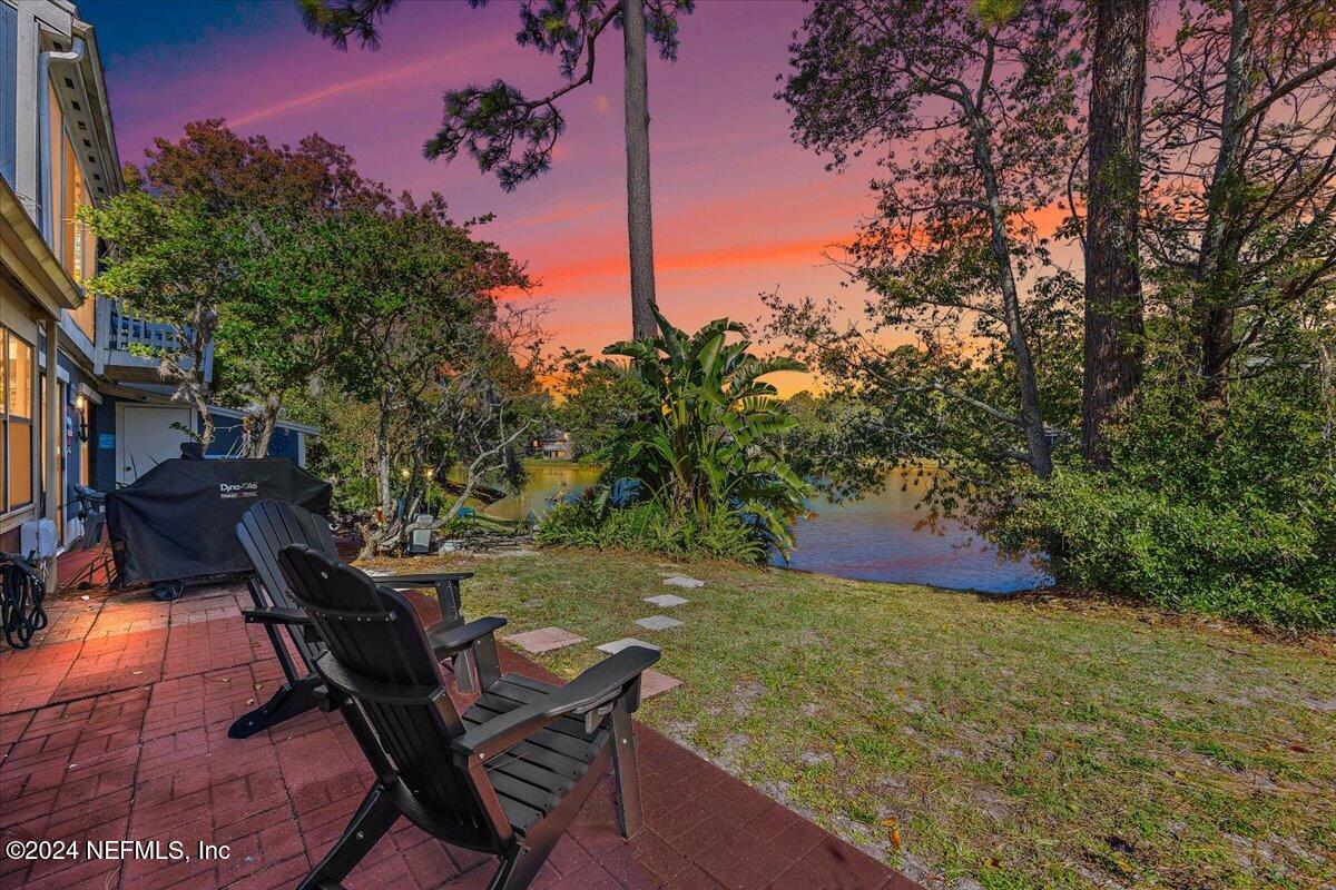
<svg viewBox="0 0 1336 890">
<path fill-rule="evenodd" d="M 441 191 L 460 219 L 494 212 L 481 232 L 541 282 L 557 343 L 597 351 L 629 334 L 619 33 L 595 81 L 562 105 L 568 129 L 552 171 L 506 195 L 472 160 L 428 161 L 421 145 L 448 87 L 500 76 L 538 93 L 557 83 L 554 59 L 516 45 L 513 5 L 401 4 L 378 53 L 334 49 L 290 5 L 266 11 L 273 23 L 259 33 L 150 41 L 108 57 L 124 160 L 140 161 L 154 136 L 175 137 L 199 117 L 274 141 L 319 131 L 394 189 Z M 679 327 L 721 315 L 755 322 L 758 292 L 775 287 L 835 294 L 842 276 L 822 251 L 871 208 L 867 169 L 826 172 L 792 143 L 774 99 L 803 12 L 798 3 L 700 3 L 683 20 L 677 63 L 651 61 L 657 291 Z"/>
</svg>

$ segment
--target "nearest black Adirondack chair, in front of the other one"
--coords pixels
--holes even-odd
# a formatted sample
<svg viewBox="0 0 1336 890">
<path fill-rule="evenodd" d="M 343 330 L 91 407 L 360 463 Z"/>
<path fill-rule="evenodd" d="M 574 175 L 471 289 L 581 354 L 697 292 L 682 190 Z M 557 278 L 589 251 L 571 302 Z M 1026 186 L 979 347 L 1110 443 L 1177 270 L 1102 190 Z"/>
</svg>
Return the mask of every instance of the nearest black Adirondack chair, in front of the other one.
<svg viewBox="0 0 1336 890">
<path fill-rule="evenodd" d="M 609 761 L 624 835 L 640 826 L 631 714 L 640 674 L 659 652 L 628 647 L 566 686 L 500 677 L 493 630 L 464 624 L 434 644 L 402 594 L 323 552 L 290 544 L 279 567 L 313 627 L 327 707 L 342 711 L 375 770 L 375 785 L 334 847 L 299 885 L 330 890 L 406 817 L 448 843 L 494 854 L 489 890 L 522 890 L 580 811 Z M 462 715 L 438 656 L 472 647 L 484 694 Z"/>
</svg>

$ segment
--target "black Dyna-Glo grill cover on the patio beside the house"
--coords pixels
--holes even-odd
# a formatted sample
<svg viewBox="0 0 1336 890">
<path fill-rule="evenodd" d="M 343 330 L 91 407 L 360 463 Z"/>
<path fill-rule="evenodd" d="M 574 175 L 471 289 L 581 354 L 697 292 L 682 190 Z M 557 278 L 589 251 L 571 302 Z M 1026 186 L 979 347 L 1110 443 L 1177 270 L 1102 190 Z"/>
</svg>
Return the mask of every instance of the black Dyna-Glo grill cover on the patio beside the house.
<svg viewBox="0 0 1336 890">
<path fill-rule="evenodd" d="M 107 494 L 115 586 L 250 572 L 234 527 L 261 500 L 329 510 L 333 487 L 291 460 L 163 460 Z"/>
</svg>

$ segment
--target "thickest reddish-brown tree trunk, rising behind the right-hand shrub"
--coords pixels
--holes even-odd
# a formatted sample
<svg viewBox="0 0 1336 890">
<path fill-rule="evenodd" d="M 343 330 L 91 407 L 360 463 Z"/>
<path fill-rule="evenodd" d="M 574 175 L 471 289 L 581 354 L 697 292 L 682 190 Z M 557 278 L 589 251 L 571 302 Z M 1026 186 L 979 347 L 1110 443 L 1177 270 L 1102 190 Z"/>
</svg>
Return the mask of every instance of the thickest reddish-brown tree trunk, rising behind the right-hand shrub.
<svg viewBox="0 0 1336 890">
<path fill-rule="evenodd" d="M 1086 460 L 1104 470 L 1109 466 L 1108 427 L 1125 416 L 1142 359 L 1137 238 L 1150 3 L 1104 0 L 1096 7 L 1081 448 Z"/>
</svg>

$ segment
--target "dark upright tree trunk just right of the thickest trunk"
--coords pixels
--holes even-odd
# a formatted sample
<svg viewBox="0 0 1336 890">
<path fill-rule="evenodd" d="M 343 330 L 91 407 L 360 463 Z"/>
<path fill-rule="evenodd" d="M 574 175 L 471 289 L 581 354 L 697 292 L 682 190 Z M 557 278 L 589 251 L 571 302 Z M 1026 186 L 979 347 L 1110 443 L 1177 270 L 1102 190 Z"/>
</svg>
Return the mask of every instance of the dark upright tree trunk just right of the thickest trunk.
<svg viewBox="0 0 1336 890">
<path fill-rule="evenodd" d="M 1238 212 L 1242 189 L 1241 121 L 1253 89 L 1253 32 L 1246 0 L 1230 0 L 1229 60 L 1225 65 L 1224 103 L 1220 108 L 1220 149 L 1206 193 L 1206 221 L 1197 255 L 1193 292 L 1193 342 L 1189 362 L 1201 375 L 1201 400 L 1222 403 L 1233 358 L 1234 311 L 1229 306 L 1229 220 Z"/>
</svg>

